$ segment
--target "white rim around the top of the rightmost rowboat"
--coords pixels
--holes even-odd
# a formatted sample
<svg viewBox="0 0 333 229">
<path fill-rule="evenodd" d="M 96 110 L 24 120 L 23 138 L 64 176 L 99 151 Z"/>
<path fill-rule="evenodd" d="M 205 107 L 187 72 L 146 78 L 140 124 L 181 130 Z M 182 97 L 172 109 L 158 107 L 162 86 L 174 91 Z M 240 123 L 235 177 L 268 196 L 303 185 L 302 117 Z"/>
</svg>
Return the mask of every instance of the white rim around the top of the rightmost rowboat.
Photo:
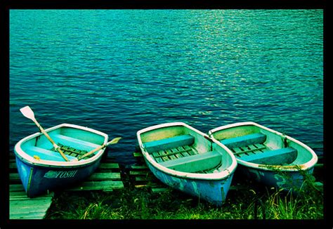
<svg viewBox="0 0 333 229">
<path fill-rule="evenodd" d="M 257 124 L 256 122 L 237 122 L 234 124 L 227 124 L 225 126 L 219 126 L 216 127 L 214 129 L 211 129 L 210 131 L 208 131 L 208 135 L 211 138 L 214 138 L 213 133 L 216 133 L 218 131 L 224 130 L 224 129 L 230 129 L 236 126 L 257 126 L 260 129 L 265 129 L 266 131 L 269 131 L 270 133 L 274 133 L 277 134 L 279 136 L 283 136 L 284 138 L 287 138 L 288 140 L 291 140 L 292 142 L 301 145 L 301 147 L 305 148 L 306 150 L 308 150 L 308 152 L 311 153 L 312 157 L 311 159 L 308 160 L 308 162 L 303 163 L 303 164 L 295 164 L 295 165 L 268 165 L 268 164 L 256 164 L 253 162 L 245 162 L 244 160 L 240 159 L 240 158 L 236 158 L 237 163 L 241 164 L 242 166 L 247 166 L 247 167 L 251 167 L 254 169 L 261 169 L 261 170 L 266 170 L 266 171 L 272 171 L 272 170 L 278 170 L 278 171 L 299 171 L 299 170 L 309 170 L 309 169 L 313 169 L 313 167 L 315 166 L 315 164 L 318 162 L 318 156 L 315 154 L 315 152 L 308 147 L 308 145 L 302 143 L 299 140 L 296 140 L 295 138 L 292 138 L 290 136 L 287 136 L 283 133 L 280 133 L 279 131 L 275 131 L 273 129 L 269 129 L 266 126 L 262 126 L 260 124 Z M 216 139 L 216 138 L 214 138 Z M 218 141 L 219 142 L 219 141 Z"/>
</svg>

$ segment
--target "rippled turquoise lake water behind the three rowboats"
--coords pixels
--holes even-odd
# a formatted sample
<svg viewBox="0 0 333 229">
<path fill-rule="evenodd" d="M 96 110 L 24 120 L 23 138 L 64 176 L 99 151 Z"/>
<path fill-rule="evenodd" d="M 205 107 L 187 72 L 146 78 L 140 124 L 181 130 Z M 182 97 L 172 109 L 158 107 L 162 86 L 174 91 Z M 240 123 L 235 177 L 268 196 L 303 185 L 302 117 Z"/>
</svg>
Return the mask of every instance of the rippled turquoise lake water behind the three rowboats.
<svg viewBox="0 0 333 229">
<path fill-rule="evenodd" d="M 322 10 L 11 10 L 10 152 L 37 126 L 121 136 L 252 121 L 323 153 Z"/>
</svg>

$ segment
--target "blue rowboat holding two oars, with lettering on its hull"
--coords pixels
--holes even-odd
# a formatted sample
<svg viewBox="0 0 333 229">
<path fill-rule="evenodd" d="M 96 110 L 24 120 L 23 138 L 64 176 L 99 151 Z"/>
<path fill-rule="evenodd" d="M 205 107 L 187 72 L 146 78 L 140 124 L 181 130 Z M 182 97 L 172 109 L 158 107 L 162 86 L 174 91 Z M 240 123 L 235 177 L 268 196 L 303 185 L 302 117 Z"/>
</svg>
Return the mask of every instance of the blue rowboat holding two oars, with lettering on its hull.
<svg viewBox="0 0 333 229">
<path fill-rule="evenodd" d="M 100 164 L 106 146 L 119 140 L 107 142 L 107 134 L 74 124 L 44 130 L 30 107 L 21 108 L 21 112 L 41 130 L 22 138 L 14 148 L 18 174 L 28 197 L 84 180 Z"/>
</svg>

